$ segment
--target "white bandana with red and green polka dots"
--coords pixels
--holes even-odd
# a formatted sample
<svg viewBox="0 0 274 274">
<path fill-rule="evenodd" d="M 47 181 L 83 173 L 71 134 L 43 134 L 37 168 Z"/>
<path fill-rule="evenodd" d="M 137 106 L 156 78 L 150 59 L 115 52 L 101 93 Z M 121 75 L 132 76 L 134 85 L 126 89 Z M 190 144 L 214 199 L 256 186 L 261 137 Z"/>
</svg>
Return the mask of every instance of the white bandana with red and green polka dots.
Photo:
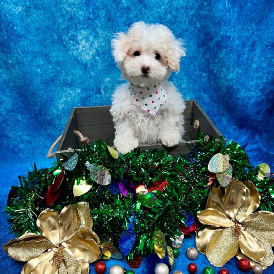
<svg viewBox="0 0 274 274">
<path fill-rule="evenodd" d="M 138 105 L 141 109 L 152 115 L 157 114 L 167 98 L 166 88 L 162 83 L 157 83 L 145 88 L 130 84 L 129 93 L 135 105 Z"/>
</svg>

